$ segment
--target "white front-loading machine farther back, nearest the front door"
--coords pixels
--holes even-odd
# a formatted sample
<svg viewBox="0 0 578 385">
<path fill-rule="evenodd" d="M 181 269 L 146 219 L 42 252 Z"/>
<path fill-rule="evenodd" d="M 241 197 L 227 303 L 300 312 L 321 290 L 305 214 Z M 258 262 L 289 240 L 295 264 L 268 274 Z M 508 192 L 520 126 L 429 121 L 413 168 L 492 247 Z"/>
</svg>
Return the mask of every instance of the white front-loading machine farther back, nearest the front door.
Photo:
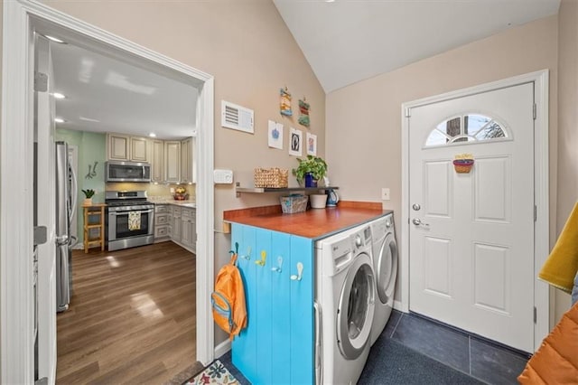
<svg viewBox="0 0 578 385">
<path fill-rule="evenodd" d="M 386 327 L 394 305 L 397 277 L 397 244 L 394 216 L 387 214 L 369 222 L 373 239 L 373 268 L 376 274 L 376 311 L 371 330 L 371 344 Z"/>
</svg>

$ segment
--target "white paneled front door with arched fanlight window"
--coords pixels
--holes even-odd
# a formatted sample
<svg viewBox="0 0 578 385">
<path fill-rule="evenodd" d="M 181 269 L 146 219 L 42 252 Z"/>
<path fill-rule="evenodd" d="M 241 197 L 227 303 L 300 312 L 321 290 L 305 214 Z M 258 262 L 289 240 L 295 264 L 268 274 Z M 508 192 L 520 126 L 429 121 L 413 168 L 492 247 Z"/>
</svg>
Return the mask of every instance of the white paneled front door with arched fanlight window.
<svg viewBox="0 0 578 385">
<path fill-rule="evenodd" d="M 534 351 L 534 83 L 411 109 L 410 310 Z M 470 154 L 469 173 L 452 161 Z"/>
</svg>

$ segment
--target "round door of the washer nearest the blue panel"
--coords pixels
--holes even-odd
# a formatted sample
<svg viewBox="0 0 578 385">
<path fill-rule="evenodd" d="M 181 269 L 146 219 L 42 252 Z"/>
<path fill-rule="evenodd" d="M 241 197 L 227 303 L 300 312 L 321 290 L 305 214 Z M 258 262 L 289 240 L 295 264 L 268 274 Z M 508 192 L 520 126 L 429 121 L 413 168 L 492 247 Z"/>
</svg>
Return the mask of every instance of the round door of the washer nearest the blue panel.
<svg viewBox="0 0 578 385">
<path fill-rule="evenodd" d="M 337 308 L 337 344 L 347 360 L 357 359 L 369 341 L 375 310 L 374 287 L 371 258 L 361 253 L 348 268 Z"/>
</svg>

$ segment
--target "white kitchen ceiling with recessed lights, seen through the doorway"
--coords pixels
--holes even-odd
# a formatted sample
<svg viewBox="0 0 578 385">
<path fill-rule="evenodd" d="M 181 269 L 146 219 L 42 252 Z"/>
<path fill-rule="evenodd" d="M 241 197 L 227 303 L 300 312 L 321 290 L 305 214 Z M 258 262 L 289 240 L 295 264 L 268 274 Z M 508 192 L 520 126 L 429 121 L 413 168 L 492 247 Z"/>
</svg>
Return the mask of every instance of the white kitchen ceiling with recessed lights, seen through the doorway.
<svg viewBox="0 0 578 385">
<path fill-rule="evenodd" d="M 57 128 L 192 136 L 198 90 L 191 85 L 73 44 L 51 42 Z"/>
</svg>

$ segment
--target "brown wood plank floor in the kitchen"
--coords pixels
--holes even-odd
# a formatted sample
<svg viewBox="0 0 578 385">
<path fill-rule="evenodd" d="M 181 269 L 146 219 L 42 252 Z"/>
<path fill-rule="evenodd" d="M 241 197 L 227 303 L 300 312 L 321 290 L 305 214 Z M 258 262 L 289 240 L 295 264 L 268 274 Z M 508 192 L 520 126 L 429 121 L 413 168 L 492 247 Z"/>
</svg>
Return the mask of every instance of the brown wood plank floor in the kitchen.
<svg viewBox="0 0 578 385">
<path fill-rule="evenodd" d="M 195 264 L 172 242 L 75 250 L 57 382 L 159 384 L 196 371 Z"/>
</svg>

